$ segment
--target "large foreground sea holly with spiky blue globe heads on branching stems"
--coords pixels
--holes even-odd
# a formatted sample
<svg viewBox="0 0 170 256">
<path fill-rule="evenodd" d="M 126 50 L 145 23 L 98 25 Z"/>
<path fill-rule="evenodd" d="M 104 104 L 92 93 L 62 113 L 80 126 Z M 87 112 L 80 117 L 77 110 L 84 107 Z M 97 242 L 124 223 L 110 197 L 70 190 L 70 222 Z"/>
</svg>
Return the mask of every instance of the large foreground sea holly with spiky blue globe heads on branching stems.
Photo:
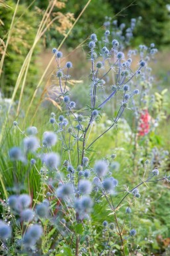
<svg viewBox="0 0 170 256">
<path fill-rule="evenodd" d="M 64 63 L 62 52 L 53 49 L 56 79 L 60 84 L 60 96 L 56 100 L 62 102 L 64 111 L 60 116 L 51 113 L 50 131 L 44 131 L 42 138 L 37 138 L 36 127 L 30 126 L 22 132 L 18 122 L 13 122 L 14 128 L 24 136 L 21 147 L 9 150 L 14 170 L 21 162 L 40 176 L 41 184 L 36 198 L 18 189 L 2 202 L 0 250 L 3 255 L 101 256 L 116 252 L 126 256 L 128 243 L 138 235 L 132 213 L 133 206 L 142 197 L 141 186 L 169 181 L 169 176 L 162 176 L 147 162 L 140 184 L 123 186 L 122 180 L 115 178 L 116 174 L 112 176 L 110 162 L 116 154 L 112 154 L 111 160 L 97 154 L 95 142 L 99 145 L 106 132 L 117 127 L 123 115 L 126 118 L 130 102 L 140 93 L 131 82 L 137 81 L 147 66 L 141 59 L 132 70 L 132 59 L 120 51 L 117 39 L 108 43 L 106 37 L 109 36 L 106 31 L 101 51 L 94 33 L 87 45 L 91 70 L 89 99 L 84 110 L 76 110 L 76 102 L 67 91 L 73 64 L 61 64 Z M 108 74 L 112 79 L 106 79 Z M 114 109 L 116 114 L 110 126 L 101 134 L 97 132 L 94 138 L 93 127 L 102 122 L 105 108 L 115 96 L 119 98 Z M 60 148 L 58 153 L 54 150 L 56 145 Z M 19 179 L 15 173 L 14 182 L 17 188 Z M 99 205 L 106 218 L 100 225 L 91 218 Z"/>
</svg>

